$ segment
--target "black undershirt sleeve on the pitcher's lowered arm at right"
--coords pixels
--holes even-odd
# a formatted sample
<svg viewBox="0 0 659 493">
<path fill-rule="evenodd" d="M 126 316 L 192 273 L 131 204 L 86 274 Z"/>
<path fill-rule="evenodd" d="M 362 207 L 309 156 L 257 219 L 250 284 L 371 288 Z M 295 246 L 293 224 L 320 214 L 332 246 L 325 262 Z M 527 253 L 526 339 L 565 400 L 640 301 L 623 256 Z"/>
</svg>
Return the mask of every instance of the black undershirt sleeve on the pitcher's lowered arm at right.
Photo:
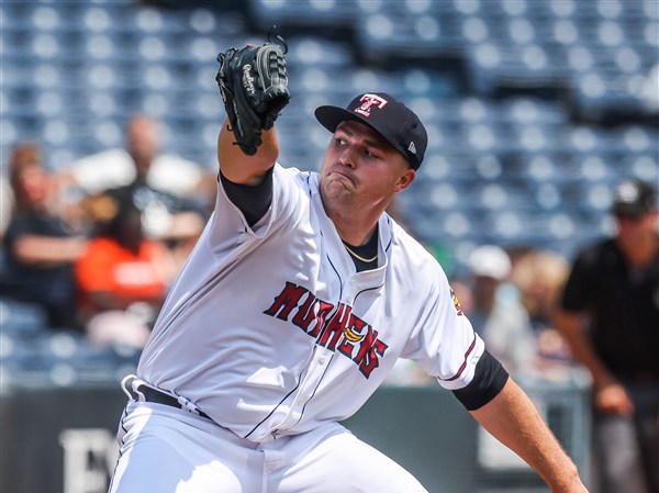
<svg viewBox="0 0 659 493">
<path fill-rule="evenodd" d="M 507 379 L 509 373 L 501 362 L 485 350 L 476 363 L 471 382 L 463 389 L 454 390 L 453 393 L 468 411 L 476 411 L 494 399 Z"/>
</svg>

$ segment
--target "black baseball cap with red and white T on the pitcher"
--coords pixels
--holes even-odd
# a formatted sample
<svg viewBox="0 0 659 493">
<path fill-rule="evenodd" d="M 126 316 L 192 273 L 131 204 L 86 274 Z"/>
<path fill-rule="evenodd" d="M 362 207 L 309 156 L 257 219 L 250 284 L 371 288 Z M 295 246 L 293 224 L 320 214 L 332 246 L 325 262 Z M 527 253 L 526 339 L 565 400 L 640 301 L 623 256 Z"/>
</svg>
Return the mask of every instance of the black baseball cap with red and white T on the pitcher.
<svg viewBox="0 0 659 493">
<path fill-rule="evenodd" d="M 418 116 L 386 92 L 365 92 L 347 108 L 324 105 L 315 110 L 315 117 L 330 132 L 344 120 L 365 123 L 400 152 L 410 166 L 418 169 L 428 144 L 428 135 Z"/>
</svg>

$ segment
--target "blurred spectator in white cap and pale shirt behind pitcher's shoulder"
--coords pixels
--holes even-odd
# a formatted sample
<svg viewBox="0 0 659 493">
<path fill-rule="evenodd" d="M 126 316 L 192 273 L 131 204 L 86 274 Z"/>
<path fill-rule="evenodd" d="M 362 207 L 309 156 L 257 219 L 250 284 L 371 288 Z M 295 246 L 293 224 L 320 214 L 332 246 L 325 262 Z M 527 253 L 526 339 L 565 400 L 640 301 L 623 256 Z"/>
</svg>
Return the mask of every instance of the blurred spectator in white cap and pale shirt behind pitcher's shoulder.
<svg viewBox="0 0 659 493">
<path fill-rule="evenodd" d="M 535 339 L 528 314 L 507 282 L 511 268 L 505 250 L 494 245 L 481 246 L 469 258 L 469 292 L 460 293 L 462 299 L 456 294 L 490 352 L 511 371 L 521 371 L 534 361 Z M 455 291 L 456 285 L 451 287 Z"/>
</svg>

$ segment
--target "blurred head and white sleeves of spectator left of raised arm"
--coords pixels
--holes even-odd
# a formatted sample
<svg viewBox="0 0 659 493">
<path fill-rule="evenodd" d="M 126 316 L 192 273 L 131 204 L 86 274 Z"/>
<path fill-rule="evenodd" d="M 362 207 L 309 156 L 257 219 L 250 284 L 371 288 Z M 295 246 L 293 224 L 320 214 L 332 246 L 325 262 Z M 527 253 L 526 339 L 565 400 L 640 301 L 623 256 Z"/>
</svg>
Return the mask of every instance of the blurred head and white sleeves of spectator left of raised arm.
<svg viewBox="0 0 659 493">
<path fill-rule="evenodd" d="M 208 210 L 215 193 L 216 175 L 196 163 L 160 152 L 160 126 L 147 115 L 126 122 L 126 147 L 79 159 L 60 173 L 63 183 L 90 195 L 111 188 L 142 183 L 150 190 L 193 202 Z"/>
</svg>

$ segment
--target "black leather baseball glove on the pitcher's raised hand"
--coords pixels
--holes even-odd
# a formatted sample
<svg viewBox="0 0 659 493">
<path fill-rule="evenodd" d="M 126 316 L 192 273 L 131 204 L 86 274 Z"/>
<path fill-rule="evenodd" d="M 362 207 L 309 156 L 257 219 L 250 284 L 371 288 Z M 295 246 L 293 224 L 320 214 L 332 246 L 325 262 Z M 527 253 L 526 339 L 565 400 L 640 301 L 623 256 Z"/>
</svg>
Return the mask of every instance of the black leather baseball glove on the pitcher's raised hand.
<svg viewBox="0 0 659 493">
<path fill-rule="evenodd" d="M 261 46 L 230 48 L 217 55 L 220 69 L 215 80 L 236 142 L 243 153 L 256 154 L 261 131 L 275 124 L 289 103 L 286 59 L 287 46 L 271 42 Z"/>
</svg>

